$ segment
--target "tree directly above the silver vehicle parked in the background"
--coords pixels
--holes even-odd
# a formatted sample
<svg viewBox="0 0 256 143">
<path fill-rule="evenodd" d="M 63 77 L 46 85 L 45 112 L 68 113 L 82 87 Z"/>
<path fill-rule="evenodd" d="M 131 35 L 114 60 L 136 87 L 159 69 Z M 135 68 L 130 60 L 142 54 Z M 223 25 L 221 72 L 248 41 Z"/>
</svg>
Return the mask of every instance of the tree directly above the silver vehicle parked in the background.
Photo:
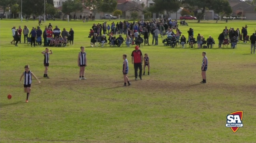
<svg viewBox="0 0 256 143">
<path fill-rule="evenodd" d="M 101 2 L 99 10 L 104 13 L 112 13 L 116 10 L 117 1 L 116 0 L 104 0 Z"/>
</svg>

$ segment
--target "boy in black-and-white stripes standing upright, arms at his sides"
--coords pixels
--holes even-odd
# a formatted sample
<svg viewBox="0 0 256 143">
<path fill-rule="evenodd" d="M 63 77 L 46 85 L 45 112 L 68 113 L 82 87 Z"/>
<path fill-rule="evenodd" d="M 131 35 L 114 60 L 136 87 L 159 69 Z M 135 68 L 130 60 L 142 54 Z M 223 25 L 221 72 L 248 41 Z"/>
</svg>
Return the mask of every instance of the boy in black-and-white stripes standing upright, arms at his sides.
<svg viewBox="0 0 256 143">
<path fill-rule="evenodd" d="M 86 58 L 86 52 L 84 52 L 84 47 L 80 47 L 81 51 L 78 54 L 78 60 L 77 60 L 77 65 L 80 67 L 80 72 L 79 72 L 79 80 L 87 80 L 84 78 L 84 69 L 87 66 L 87 58 Z"/>
</svg>

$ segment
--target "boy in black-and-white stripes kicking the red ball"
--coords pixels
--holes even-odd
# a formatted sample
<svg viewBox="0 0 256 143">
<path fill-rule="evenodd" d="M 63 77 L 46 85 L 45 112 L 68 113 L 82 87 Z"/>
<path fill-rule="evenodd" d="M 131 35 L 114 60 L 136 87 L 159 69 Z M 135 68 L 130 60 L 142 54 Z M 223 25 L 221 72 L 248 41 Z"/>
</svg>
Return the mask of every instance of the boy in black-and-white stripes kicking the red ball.
<svg viewBox="0 0 256 143">
<path fill-rule="evenodd" d="M 20 78 L 20 83 L 21 83 L 21 79 L 24 76 L 24 92 L 27 93 L 27 99 L 26 102 L 28 102 L 28 97 L 30 95 L 30 91 L 31 91 L 31 83 L 32 83 L 32 76 L 34 76 L 34 78 L 36 78 L 36 80 L 38 81 L 38 83 L 40 83 L 40 81 L 37 79 L 37 77 L 33 74 L 32 71 L 29 70 L 29 65 L 25 65 L 25 71 L 22 73 L 21 78 Z"/>
</svg>

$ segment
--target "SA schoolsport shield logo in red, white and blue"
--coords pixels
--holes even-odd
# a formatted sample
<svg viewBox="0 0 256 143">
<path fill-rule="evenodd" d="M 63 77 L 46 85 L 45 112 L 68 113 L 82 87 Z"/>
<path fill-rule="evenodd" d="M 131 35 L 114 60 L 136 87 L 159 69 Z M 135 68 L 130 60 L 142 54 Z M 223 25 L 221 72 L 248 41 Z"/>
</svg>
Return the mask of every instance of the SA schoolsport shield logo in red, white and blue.
<svg viewBox="0 0 256 143">
<path fill-rule="evenodd" d="M 227 115 L 227 123 L 226 127 L 230 127 L 230 129 L 235 133 L 239 127 L 243 127 L 243 111 L 235 111 Z"/>
</svg>

